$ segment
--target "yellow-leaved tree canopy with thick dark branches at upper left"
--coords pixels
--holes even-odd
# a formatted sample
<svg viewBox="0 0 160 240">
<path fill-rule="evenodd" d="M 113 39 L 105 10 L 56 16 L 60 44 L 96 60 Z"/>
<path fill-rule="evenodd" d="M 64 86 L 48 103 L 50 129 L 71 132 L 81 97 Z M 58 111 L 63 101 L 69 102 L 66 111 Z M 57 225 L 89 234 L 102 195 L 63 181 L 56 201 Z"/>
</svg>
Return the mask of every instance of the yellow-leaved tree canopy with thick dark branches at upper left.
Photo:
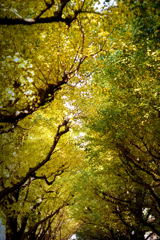
<svg viewBox="0 0 160 240">
<path fill-rule="evenodd" d="M 27 14 L 27 16 L 34 14 L 37 8 L 36 2 L 31 3 L 30 8 L 28 8 L 28 3 L 26 4 L 14 4 L 14 6 L 9 4 L 8 8 L 12 10 L 14 7 L 20 14 L 21 11 L 24 11 L 24 15 Z M 41 5 L 47 5 L 47 2 L 41 1 L 39 4 L 41 7 Z M 62 8 L 63 5 L 64 10 L 69 13 L 71 8 L 71 15 L 74 15 L 74 10 L 77 11 L 78 7 L 84 8 L 84 11 L 88 8 L 93 10 L 93 4 L 94 1 L 87 3 L 83 1 L 80 5 L 78 2 L 69 4 L 69 1 L 62 1 L 59 8 Z M 54 2 L 51 5 L 58 8 Z M 52 13 L 51 10 L 49 11 L 48 14 Z M 8 14 L 8 11 L 5 12 Z M 89 15 L 92 15 L 92 11 Z M 98 18 L 99 15 L 96 15 L 95 20 Z M 7 18 L 4 17 L 4 19 Z M 58 23 L 53 23 L 54 25 L 48 25 L 47 31 L 45 24 L 40 25 L 39 28 L 19 25 L 2 26 L 1 75 L 5 79 L 5 84 L 1 82 L 2 133 L 11 131 L 18 121 L 32 114 L 47 102 L 54 100 L 57 91 L 63 85 L 69 84 L 69 81 L 71 82 L 82 63 L 102 51 L 103 41 L 99 41 L 99 44 L 91 49 L 90 44 L 95 34 L 89 36 L 89 29 L 86 28 L 85 32 L 83 31 L 81 21 L 83 20 L 86 24 L 89 18 L 86 19 L 82 16 L 79 19 L 74 18 L 74 20 L 72 28 L 66 28 L 66 25 L 59 20 Z M 90 28 L 95 26 L 95 20 L 91 22 Z M 15 79 L 11 81 L 13 73 Z M 78 79 L 78 77 L 76 78 Z M 6 129 L 6 125 L 10 127 Z"/>
</svg>

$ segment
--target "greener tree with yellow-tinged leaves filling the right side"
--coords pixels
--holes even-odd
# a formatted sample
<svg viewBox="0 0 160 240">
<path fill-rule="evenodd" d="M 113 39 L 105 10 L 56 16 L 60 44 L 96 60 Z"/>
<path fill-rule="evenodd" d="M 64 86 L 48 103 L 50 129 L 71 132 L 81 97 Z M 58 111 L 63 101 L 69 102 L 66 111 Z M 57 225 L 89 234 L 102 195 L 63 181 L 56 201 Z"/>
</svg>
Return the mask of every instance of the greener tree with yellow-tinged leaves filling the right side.
<svg viewBox="0 0 160 240">
<path fill-rule="evenodd" d="M 156 4 L 132 2 L 128 5 L 130 16 L 124 10 L 125 24 L 117 27 L 116 35 L 109 36 L 107 41 L 112 48 L 99 58 L 104 67 L 93 77 L 88 104 L 87 98 L 85 103 L 87 112 L 81 104 L 84 121 L 87 119 L 89 164 L 99 169 L 97 175 L 92 171 L 91 189 L 114 215 L 110 220 L 113 229 L 120 229 L 118 233 L 113 231 L 114 235 L 108 239 L 144 239 L 147 231 L 160 235 L 159 9 L 155 8 Z M 148 31 L 152 26 L 152 31 Z M 93 212 L 97 219 L 102 219 L 98 207 Z M 80 231 L 86 234 L 87 228 L 90 236 L 89 224 L 92 222 L 95 227 L 98 224 L 89 213 L 84 216 L 89 220 Z M 114 226 L 115 219 L 120 223 L 119 228 Z M 98 239 L 96 232 L 91 239 Z M 104 235 L 103 230 L 100 232 Z"/>
</svg>

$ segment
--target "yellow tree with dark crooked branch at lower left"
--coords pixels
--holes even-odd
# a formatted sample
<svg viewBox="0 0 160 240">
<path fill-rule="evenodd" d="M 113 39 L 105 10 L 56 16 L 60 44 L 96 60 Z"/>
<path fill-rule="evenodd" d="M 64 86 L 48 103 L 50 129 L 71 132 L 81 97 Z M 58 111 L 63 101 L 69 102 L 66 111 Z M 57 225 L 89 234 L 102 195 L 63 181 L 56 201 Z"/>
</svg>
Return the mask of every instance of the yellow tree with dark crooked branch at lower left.
<svg viewBox="0 0 160 240">
<path fill-rule="evenodd" d="M 60 108 L 60 104 L 57 108 Z M 36 112 L 30 122 L 25 119 L 23 124 L 32 126 L 27 132 L 28 136 L 23 130 L 23 138 L 19 139 L 19 142 L 18 139 L 15 140 L 19 130 L 17 126 L 12 133 L 14 141 L 8 146 L 6 143 L 11 141 L 11 138 L 7 137 L 6 142 L 3 142 L 1 170 L 4 186 L 1 186 L 1 193 L 6 193 L 7 190 L 8 194 L 2 199 L 1 207 L 5 214 L 4 223 L 7 221 L 6 239 L 39 239 L 49 232 L 52 239 L 51 237 L 57 236 L 57 232 L 64 228 L 61 223 L 64 207 L 73 204 L 70 172 L 75 165 L 79 168 L 77 162 L 80 164 L 82 153 L 78 153 L 78 149 L 71 144 L 71 135 L 61 139 L 69 131 L 69 123 L 64 120 L 56 131 L 54 117 L 52 120 L 48 119 L 49 110 L 52 116 L 53 109 L 51 111 L 50 106 Z M 59 113 L 63 110 L 60 108 Z M 59 148 L 55 149 L 56 143 Z M 16 189 L 13 191 L 14 187 Z M 56 227 L 57 224 L 59 227 Z M 74 226 L 78 227 L 76 224 Z M 75 231 L 75 227 L 71 225 L 66 235 L 71 234 L 71 230 Z"/>
</svg>

